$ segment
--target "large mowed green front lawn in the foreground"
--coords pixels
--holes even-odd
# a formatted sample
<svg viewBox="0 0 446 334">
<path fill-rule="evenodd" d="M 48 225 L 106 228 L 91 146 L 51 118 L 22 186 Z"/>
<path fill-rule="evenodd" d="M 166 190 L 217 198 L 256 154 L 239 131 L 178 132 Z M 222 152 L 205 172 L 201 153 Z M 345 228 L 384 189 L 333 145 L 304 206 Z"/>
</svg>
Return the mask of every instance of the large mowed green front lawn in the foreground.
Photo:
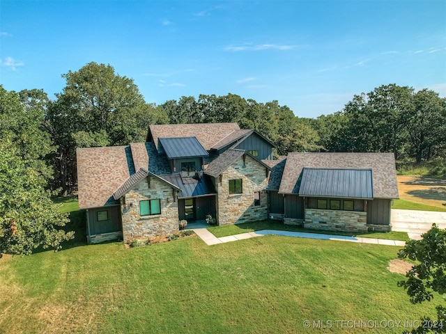
<svg viewBox="0 0 446 334">
<path fill-rule="evenodd" d="M 410 304 L 387 270 L 395 246 L 273 235 L 66 246 L 0 260 L 0 333 L 313 333 L 304 320 L 413 321 L 441 301 Z"/>
</svg>

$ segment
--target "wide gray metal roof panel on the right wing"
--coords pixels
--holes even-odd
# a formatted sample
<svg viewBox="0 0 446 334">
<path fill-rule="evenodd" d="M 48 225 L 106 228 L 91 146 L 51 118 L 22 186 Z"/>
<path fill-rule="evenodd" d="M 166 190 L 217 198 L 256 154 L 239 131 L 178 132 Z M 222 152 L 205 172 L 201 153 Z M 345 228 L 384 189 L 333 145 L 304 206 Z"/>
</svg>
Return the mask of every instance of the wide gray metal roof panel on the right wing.
<svg viewBox="0 0 446 334">
<path fill-rule="evenodd" d="M 299 196 L 374 198 L 371 169 L 303 168 Z"/>
</svg>

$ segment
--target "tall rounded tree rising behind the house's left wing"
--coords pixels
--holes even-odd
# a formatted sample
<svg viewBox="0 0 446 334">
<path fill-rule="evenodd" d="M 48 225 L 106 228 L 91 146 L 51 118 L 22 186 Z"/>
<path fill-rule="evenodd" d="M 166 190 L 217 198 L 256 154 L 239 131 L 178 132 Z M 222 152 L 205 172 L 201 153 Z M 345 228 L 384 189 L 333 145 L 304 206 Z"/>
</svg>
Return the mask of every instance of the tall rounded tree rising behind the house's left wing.
<svg viewBox="0 0 446 334">
<path fill-rule="evenodd" d="M 145 141 L 148 125 L 168 118 L 162 109 L 146 104 L 133 80 L 116 74 L 110 65 L 92 62 L 62 77 L 66 87 L 56 94 L 46 120 L 58 146 L 56 186 L 67 193 L 76 182 L 76 148 Z"/>
</svg>

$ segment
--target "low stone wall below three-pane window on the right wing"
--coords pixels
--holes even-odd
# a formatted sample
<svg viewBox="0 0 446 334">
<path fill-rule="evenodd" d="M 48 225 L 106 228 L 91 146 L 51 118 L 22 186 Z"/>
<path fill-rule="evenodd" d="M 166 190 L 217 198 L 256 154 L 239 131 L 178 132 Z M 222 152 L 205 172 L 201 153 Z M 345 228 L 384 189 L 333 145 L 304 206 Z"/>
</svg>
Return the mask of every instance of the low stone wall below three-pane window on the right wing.
<svg viewBox="0 0 446 334">
<path fill-rule="evenodd" d="M 367 232 L 367 212 L 305 209 L 304 228 Z"/>
</svg>

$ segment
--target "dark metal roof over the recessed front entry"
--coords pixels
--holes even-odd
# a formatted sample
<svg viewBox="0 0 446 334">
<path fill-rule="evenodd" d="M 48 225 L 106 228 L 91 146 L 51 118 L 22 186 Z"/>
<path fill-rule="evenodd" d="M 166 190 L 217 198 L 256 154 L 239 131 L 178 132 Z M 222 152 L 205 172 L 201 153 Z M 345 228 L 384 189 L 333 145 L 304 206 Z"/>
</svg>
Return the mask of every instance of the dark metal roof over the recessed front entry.
<svg viewBox="0 0 446 334">
<path fill-rule="evenodd" d="M 217 193 L 213 183 L 206 175 L 199 173 L 199 178 L 181 177 L 180 173 L 159 175 L 171 184 L 181 189 L 178 198 L 189 198 L 194 196 L 205 196 Z"/>
</svg>

